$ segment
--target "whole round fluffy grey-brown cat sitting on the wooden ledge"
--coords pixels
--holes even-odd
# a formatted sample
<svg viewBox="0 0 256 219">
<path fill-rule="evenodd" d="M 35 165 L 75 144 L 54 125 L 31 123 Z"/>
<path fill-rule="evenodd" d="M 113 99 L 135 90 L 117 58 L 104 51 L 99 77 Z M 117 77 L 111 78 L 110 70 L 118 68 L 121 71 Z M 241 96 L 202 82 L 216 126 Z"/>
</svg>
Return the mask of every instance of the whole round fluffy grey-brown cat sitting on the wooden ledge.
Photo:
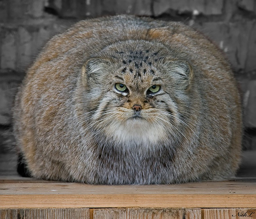
<svg viewBox="0 0 256 219">
<path fill-rule="evenodd" d="M 182 23 L 134 16 L 81 21 L 53 37 L 14 108 L 33 176 L 93 184 L 230 178 L 241 129 L 220 50 Z"/>
</svg>

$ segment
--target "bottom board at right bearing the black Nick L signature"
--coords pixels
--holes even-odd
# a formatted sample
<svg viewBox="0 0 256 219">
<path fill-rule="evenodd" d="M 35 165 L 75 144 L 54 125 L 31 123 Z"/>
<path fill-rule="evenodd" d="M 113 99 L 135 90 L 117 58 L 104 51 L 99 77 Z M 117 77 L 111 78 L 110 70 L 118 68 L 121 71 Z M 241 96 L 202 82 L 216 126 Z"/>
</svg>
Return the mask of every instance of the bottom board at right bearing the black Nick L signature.
<svg viewBox="0 0 256 219">
<path fill-rule="evenodd" d="M 231 219 L 231 218 L 251 218 L 256 219 L 256 209 L 202 209 L 205 219 Z"/>
</svg>

